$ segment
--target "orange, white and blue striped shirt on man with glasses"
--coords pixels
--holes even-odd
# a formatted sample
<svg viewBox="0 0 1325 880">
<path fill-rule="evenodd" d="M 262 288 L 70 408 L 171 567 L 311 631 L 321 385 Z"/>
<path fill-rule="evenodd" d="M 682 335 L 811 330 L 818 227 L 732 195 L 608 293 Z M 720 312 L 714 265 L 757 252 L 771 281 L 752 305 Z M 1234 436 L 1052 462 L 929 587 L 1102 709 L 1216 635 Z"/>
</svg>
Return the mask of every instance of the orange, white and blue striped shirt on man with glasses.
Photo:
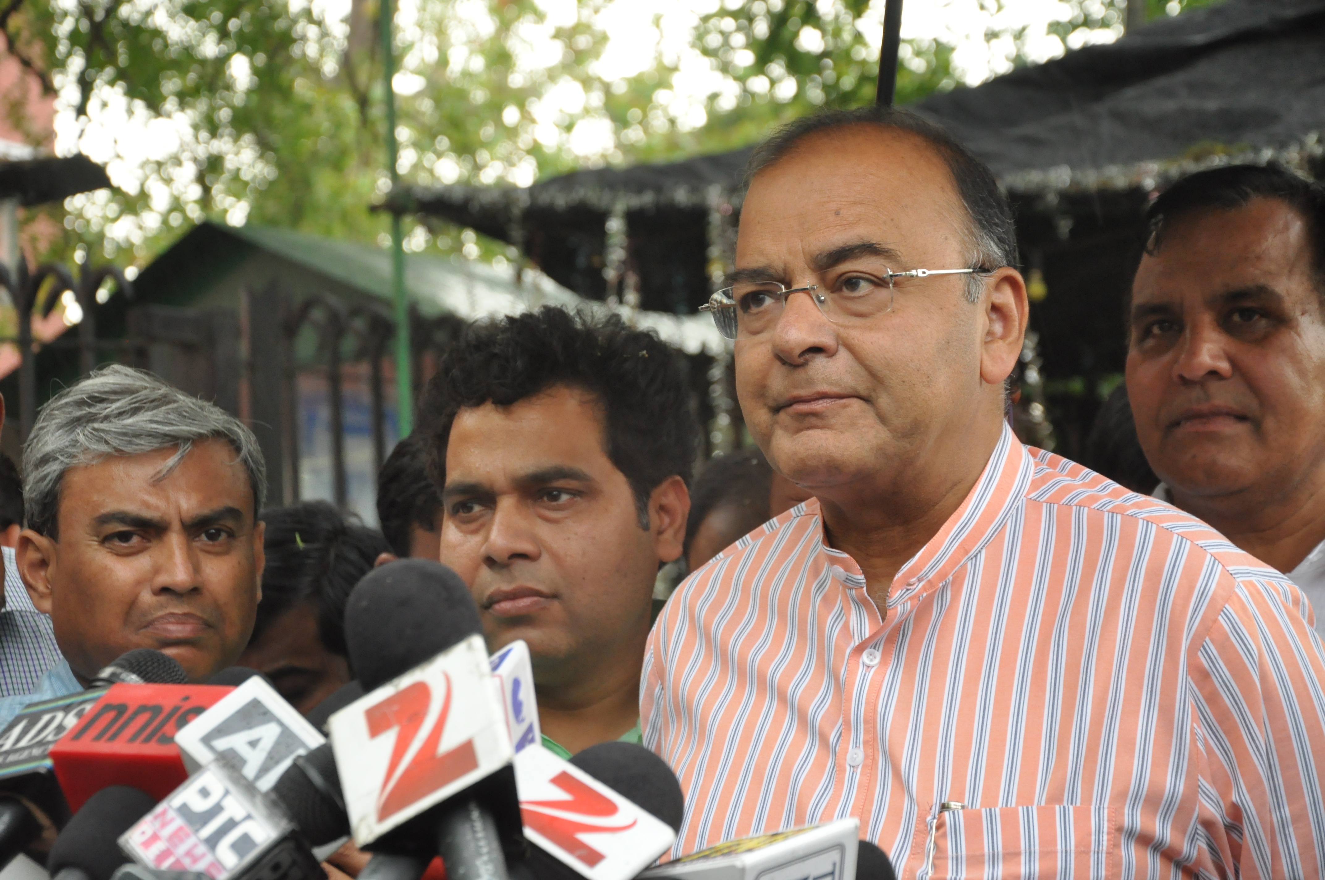
<svg viewBox="0 0 1325 880">
<path fill-rule="evenodd" d="M 1284 575 L 1003 432 L 892 583 L 818 502 L 696 571 L 649 637 L 674 853 L 857 816 L 900 877 L 1325 876 L 1325 651 Z"/>
</svg>

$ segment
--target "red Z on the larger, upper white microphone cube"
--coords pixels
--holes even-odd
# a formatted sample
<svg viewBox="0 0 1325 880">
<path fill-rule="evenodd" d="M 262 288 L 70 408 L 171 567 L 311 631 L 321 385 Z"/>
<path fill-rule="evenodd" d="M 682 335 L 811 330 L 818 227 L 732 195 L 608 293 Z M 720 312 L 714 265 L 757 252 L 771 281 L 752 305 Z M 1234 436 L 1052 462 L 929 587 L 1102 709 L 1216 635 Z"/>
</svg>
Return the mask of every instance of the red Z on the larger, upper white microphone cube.
<svg viewBox="0 0 1325 880">
<path fill-rule="evenodd" d="M 432 708 L 433 696 L 432 688 L 423 681 L 401 688 L 364 712 L 368 736 L 374 740 L 388 730 L 400 729 L 387 763 L 382 794 L 378 795 L 378 822 L 478 767 L 472 740 L 437 754 L 437 743 L 441 742 L 441 732 L 450 714 L 450 676 L 443 673 L 443 677 L 447 680 L 447 698 L 437 720 L 427 732 L 421 728 Z M 407 755 L 409 759 L 404 762 Z"/>
</svg>

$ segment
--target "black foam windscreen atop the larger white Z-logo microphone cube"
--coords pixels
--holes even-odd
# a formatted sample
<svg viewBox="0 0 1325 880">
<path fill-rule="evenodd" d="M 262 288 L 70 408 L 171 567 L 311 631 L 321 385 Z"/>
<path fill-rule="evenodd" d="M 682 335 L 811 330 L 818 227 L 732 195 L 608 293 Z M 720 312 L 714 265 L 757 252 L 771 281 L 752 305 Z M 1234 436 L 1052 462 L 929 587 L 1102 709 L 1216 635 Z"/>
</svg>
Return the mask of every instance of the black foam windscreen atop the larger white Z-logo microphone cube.
<svg viewBox="0 0 1325 880">
<path fill-rule="evenodd" d="M 374 569 L 344 608 L 350 667 L 364 690 L 481 632 L 465 582 L 431 559 L 396 559 Z"/>
</svg>

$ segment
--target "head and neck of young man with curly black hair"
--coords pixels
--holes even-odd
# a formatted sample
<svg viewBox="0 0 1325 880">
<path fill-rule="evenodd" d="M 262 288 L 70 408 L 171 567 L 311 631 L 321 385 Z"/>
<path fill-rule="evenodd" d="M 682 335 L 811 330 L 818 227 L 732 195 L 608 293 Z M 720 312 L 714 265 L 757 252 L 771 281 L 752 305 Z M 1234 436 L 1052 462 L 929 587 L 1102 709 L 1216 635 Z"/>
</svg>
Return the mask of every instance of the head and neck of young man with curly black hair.
<svg viewBox="0 0 1325 880">
<path fill-rule="evenodd" d="M 441 561 L 492 651 L 529 644 L 545 745 L 639 742 L 653 582 L 681 555 L 700 436 L 680 355 L 547 307 L 470 327 L 420 415 Z"/>
</svg>

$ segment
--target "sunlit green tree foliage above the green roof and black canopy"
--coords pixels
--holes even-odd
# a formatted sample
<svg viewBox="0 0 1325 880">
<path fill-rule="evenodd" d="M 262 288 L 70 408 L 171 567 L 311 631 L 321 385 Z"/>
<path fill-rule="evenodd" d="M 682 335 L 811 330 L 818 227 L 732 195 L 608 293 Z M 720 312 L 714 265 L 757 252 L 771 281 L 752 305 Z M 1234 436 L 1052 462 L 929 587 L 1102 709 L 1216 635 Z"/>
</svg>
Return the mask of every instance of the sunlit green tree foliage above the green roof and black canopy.
<svg viewBox="0 0 1325 880">
<path fill-rule="evenodd" d="M 344 15 L 327 0 L 0 0 L 9 45 L 119 187 L 52 211 L 66 229 L 52 256 L 142 265 L 203 217 L 382 240 L 386 220 L 368 209 L 388 186 L 378 5 L 348 1 Z M 1208 1 L 1147 0 L 1151 16 Z M 996 13 L 1004 0 L 982 3 Z M 873 99 L 882 0 L 714 0 L 694 41 L 721 85 L 684 99 L 674 60 L 602 81 L 607 5 L 582 0 L 550 21 L 533 0 L 403 3 L 401 176 L 529 184 L 743 146 L 816 106 Z M 1064 46 L 1120 28 L 1121 0 L 1060 5 L 1049 32 Z M 1026 60 L 1027 34 L 988 36 L 1008 64 Z M 959 82 L 953 46 L 904 42 L 900 103 Z M 481 244 L 421 225 L 407 241 L 472 256 Z"/>
</svg>

